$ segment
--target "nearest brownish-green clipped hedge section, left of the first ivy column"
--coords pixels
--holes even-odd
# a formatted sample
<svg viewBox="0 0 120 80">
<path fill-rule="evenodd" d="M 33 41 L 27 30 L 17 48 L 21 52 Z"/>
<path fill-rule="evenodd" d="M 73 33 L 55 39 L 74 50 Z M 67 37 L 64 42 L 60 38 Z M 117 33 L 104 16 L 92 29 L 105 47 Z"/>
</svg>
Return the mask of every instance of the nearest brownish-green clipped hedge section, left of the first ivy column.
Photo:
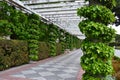
<svg viewBox="0 0 120 80">
<path fill-rule="evenodd" d="M 0 40 L 0 70 L 29 62 L 26 41 Z"/>
</svg>

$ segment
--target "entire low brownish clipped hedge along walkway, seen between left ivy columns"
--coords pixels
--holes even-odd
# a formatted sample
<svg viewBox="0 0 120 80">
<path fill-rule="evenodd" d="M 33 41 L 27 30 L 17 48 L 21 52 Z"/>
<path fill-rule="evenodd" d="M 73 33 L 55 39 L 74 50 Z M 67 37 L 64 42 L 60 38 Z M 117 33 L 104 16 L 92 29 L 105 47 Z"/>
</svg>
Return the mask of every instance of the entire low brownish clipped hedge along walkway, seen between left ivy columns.
<svg viewBox="0 0 120 80">
<path fill-rule="evenodd" d="M 62 44 L 56 44 L 56 56 L 63 54 Z M 50 45 L 39 42 L 38 60 L 50 56 Z M 27 41 L 22 40 L 0 40 L 0 71 L 11 67 L 29 63 L 29 51 Z"/>
</svg>

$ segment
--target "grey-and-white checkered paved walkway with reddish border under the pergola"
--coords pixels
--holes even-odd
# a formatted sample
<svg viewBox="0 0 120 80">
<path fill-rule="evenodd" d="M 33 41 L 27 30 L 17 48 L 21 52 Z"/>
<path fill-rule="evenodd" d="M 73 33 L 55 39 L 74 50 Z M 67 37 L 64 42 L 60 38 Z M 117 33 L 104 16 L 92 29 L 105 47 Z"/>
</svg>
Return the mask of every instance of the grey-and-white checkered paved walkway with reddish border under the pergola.
<svg viewBox="0 0 120 80">
<path fill-rule="evenodd" d="M 0 80 L 77 80 L 81 50 L 0 72 Z"/>
</svg>

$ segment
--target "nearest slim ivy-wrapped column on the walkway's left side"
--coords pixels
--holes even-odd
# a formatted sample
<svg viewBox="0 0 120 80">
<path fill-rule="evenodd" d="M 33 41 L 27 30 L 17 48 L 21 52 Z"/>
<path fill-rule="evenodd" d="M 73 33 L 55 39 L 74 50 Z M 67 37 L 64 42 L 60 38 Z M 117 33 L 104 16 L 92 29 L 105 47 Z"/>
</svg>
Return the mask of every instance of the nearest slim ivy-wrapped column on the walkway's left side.
<svg viewBox="0 0 120 80">
<path fill-rule="evenodd" d="M 28 49 L 29 49 L 29 57 L 31 60 L 38 60 L 38 43 L 39 43 L 39 16 L 36 14 L 29 15 L 29 30 L 28 30 Z"/>
</svg>

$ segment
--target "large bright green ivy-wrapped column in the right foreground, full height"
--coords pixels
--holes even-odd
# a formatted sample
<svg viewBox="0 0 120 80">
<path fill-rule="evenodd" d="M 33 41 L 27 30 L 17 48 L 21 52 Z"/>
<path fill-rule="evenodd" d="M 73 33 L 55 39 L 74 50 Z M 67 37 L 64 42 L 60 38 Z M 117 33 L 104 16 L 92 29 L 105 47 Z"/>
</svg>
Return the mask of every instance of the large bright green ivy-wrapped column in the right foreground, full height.
<svg viewBox="0 0 120 80">
<path fill-rule="evenodd" d="M 115 21 L 115 16 L 107 8 L 110 5 L 101 5 L 105 5 L 106 1 L 109 3 L 109 0 L 90 1 L 97 2 L 77 11 L 78 16 L 86 18 L 79 23 L 80 31 L 86 36 L 81 46 L 81 66 L 85 70 L 82 80 L 109 80 L 106 76 L 113 73 L 111 60 L 114 56 L 114 48 L 109 43 L 114 40 L 115 30 L 107 25 Z"/>
</svg>

